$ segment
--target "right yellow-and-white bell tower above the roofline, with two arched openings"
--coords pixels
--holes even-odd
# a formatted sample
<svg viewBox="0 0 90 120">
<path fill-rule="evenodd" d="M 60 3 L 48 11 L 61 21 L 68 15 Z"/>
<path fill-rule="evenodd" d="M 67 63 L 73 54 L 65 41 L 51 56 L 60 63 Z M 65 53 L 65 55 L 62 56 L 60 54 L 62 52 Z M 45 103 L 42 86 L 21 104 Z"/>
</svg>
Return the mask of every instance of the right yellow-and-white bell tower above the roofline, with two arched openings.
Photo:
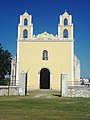
<svg viewBox="0 0 90 120">
<path fill-rule="evenodd" d="M 69 15 L 67 11 L 65 11 L 63 15 L 60 15 L 60 23 L 58 24 L 58 37 L 62 40 L 73 39 L 72 15 Z"/>
</svg>

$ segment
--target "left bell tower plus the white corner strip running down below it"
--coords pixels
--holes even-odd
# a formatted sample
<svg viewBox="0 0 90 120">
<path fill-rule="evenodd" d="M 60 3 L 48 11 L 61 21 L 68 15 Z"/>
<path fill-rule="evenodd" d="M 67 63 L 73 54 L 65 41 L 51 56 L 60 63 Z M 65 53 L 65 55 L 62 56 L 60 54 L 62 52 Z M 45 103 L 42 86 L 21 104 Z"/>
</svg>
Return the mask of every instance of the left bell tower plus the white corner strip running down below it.
<svg viewBox="0 0 90 120">
<path fill-rule="evenodd" d="M 33 24 L 32 16 L 25 11 L 23 15 L 20 15 L 20 23 L 18 25 L 18 39 L 17 39 L 17 70 L 16 70 L 16 85 L 19 85 L 19 65 L 20 65 L 20 42 L 23 40 L 30 40 L 33 37 Z"/>
</svg>

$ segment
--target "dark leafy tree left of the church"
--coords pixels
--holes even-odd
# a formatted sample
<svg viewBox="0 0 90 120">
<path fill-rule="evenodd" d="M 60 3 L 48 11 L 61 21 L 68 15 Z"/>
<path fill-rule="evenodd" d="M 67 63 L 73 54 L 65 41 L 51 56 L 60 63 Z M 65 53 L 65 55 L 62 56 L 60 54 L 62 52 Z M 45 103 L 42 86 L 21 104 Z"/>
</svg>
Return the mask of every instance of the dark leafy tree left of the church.
<svg viewBox="0 0 90 120">
<path fill-rule="evenodd" d="M 0 44 L 0 81 L 3 83 L 5 76 L 11 74 L 11 53 L 4 50 Z"/>
</svg>

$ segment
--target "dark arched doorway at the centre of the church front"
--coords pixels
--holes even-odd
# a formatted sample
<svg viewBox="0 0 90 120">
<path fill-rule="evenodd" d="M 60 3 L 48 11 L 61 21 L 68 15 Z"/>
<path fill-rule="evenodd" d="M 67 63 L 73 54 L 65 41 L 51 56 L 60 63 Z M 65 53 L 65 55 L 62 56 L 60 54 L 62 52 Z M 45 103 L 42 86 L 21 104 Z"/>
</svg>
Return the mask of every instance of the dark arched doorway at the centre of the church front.
<svg viewBox="0 0 90 120">
<path fill-rule="evenodd" d="M 40 71 L 40 89 L 50 89 L 50 71 L 47 68 Z"/>
</svg>

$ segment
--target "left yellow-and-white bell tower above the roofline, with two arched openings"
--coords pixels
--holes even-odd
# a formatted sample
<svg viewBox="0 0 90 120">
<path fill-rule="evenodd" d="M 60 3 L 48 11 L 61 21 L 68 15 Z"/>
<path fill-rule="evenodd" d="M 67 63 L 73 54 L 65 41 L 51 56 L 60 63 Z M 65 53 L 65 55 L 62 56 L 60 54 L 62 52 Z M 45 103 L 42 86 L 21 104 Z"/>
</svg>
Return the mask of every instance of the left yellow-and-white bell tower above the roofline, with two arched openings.
<svg viewBox="0 0 90 120">
<path fill-rule="evenodd" d="M 32 16 L 25 11 L 20 15 L 20 23 L 18 25 L 18 39 L 30 39 L 33 36 Z"/>
</svg>

